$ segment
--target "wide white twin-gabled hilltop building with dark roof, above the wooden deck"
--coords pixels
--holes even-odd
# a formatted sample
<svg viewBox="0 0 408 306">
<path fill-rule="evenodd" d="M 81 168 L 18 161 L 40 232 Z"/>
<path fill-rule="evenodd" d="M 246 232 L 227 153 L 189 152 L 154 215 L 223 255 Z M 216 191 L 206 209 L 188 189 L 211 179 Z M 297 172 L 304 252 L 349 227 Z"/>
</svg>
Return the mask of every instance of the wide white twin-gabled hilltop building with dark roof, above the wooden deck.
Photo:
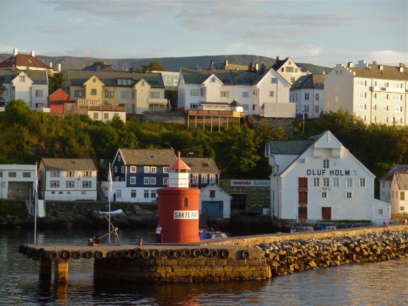
<svg viewBox="0 0 408 306">
<path fill-rule="evenodd" d="M 245 115 L 295 117 L 295 104 L 289 102 L 290 84 L 272 68 L 252 70 L 180 70 L 178 107 L 182 110 L 227 110 L 234 99 Z"/>
</svg>

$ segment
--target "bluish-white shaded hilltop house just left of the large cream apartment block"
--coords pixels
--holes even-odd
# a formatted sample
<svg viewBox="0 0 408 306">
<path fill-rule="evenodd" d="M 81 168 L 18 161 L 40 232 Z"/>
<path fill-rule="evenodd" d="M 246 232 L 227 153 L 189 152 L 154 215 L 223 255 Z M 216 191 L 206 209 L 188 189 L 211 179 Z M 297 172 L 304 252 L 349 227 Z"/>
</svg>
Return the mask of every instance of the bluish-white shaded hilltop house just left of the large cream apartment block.
<svg viewBox="0 0 408 306">
<path fill-rule="evenodd" d="M 296 104 L 296 117 L 318 118 L 324 112 L 325 74 L 308 73 L 292 84 L 290 102 Z"/>
</svg>

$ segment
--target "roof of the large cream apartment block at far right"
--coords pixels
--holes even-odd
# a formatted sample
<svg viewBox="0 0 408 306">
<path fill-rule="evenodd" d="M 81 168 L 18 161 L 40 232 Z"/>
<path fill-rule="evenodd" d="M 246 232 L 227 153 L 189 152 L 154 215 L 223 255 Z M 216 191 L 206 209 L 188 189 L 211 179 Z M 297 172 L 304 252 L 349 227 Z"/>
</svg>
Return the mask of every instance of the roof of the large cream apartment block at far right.
<svg viewBox="0 0 408 306">
<path fill-rule="evenodd" d="M 379 65 L 368 64 L 367 68 L 347 67 L 349 70 L 355 72 L 355 77 L 359 78 L 373 78 L 386 80 L 401 80 L 408 81 L 408 68 L 404 67 L 403 71 L 399 71 L 399 67 L 382 65 L 382 70 Z"/>
</svg>

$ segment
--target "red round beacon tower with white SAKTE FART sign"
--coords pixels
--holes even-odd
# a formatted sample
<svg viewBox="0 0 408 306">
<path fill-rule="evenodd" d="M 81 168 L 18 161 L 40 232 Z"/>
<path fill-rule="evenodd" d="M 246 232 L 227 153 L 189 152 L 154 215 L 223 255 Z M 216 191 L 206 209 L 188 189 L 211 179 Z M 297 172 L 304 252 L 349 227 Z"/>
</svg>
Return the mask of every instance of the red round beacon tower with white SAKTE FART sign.
<svg viewBox="0 0 408 306">
<path fill-rule="evenodd" d="M 190 170 L 177 152 L 169 167 L 168 187 L 157 190 L 159 224 L 163 243 L 199 242 L 198 188 L 190 188 Z"/>
</svg>

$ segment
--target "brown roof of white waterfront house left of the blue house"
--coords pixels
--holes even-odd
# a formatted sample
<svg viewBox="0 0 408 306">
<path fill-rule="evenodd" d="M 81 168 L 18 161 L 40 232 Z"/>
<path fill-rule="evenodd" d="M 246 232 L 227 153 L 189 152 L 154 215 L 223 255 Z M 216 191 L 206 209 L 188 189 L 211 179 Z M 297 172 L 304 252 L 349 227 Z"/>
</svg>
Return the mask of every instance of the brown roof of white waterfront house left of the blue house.
<svg viewBox="0 0 408 306">
<path fill-rule="evenodd" d="M 97 171 L 91 159 L 42 158 L 45 171 Z"/>
</svg>

